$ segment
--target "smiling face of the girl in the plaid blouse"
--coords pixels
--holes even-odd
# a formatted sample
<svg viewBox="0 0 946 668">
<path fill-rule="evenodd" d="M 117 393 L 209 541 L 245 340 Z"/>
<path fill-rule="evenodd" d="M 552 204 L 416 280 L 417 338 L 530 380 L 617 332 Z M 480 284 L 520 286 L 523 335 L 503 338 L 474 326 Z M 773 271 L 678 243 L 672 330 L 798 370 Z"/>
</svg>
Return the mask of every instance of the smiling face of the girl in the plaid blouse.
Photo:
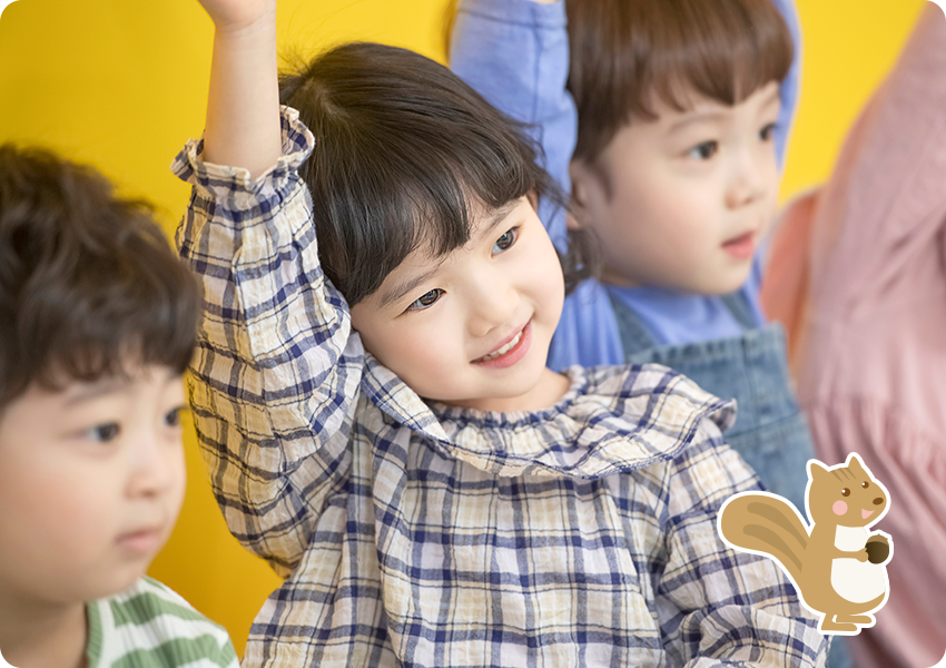
<svg viewBox="0 0 946 668">
<path fill-rule="evenodd" d="M 477 216 L 473 229 L 445 257 L 410 255 L 352 308 L 353 324 L 421 396 L 481 410 L 543 407 L 549 387 L 540 380 L 552 373 L 545 357 L 564 299 L 559 258 L 525 197 Z"/>
</svg>

